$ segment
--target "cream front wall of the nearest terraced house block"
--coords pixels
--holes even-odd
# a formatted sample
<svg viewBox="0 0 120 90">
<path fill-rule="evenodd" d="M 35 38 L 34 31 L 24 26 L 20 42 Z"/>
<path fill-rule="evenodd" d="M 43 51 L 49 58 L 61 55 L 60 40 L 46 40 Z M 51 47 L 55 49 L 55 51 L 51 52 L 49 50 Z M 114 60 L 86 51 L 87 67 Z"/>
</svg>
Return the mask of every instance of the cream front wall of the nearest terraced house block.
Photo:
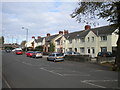
<svg viewBox="0 0 120 90">
<path fill-rule="evenodd" d="M 88 41 L 89 37 L 89 41 Z M 92 37 L 94 37 L 94 41 L 92 40 Z M 69 48 L 72 48 L 72 51 L 75 51 L 75 48 L 77 48 L 77 52 L 80 54 L 87 54 L 91 55 L 92 57 L 97 57 L 98 52 L 101 52 L 101 47 L 107 47 L 107 51 L 112 52 L 112 47 L 116 47 L 116 42 L 118 39 L 118 35 L 115 33 L 112 33 L 111 35 L 107 35 L 107 40 L 101 41 L 101 36 L 96 36 L 92 31 L 90 31 L 86 37 L 85 42 L 82 42 L 80 38 L 78 39 L 72 39 L 72 43 L 69 43 L 69 40 L 66 40 L 65 37 L 62 38 L 63 42 L 66 40 L 65 43 L 63 43 L 63 48 L 65 48 L 65 51 L 69 51 Z M 80 48 L 84 48 L 85 52 L 82 53 L 80 51 Z M 94 53 L 93 53 L 94 48 Z M 88 49 L 90 49 L 90 53 L 88 53 Z"/>
</svg>

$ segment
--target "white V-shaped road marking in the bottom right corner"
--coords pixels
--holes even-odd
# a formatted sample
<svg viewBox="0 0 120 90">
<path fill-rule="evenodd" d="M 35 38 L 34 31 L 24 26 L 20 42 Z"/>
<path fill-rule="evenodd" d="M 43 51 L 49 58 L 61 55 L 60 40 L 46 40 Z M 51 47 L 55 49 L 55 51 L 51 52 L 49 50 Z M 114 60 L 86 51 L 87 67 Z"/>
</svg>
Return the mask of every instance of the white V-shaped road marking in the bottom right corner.
<svg viewBox="0 0 120 90">
<path fill-rule="evenodd" d="M 104 86 L 100 86 L 100 85 L 97 85 L 97 84 L 93 84 L 92 82 L 114 82 L 114 81 L 118 81 L 118 80 L 83 80 L 81 81 L 82 83 L 86 83 L 86 84 L 89 84 L 89 85 L 93 85 L 93 86 L 96 86 L 96 87 L 99 87 L 99 88 L 107 88 L 107 87 L 104 87 Z"/>
</svg>

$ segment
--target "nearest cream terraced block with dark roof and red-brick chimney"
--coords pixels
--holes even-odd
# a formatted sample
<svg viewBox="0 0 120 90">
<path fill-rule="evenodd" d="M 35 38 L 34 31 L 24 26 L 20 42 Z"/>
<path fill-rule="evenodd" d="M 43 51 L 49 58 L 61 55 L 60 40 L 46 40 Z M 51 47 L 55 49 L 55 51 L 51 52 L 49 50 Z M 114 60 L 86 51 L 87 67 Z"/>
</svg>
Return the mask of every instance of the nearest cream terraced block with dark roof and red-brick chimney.
<svg viewBox="0 0 120 90">
<path fill-rule="evenodd" d="M 61 38 L 63 52 L 75 51 L 96 57 L 98 52 L 116 49 L 118 29 L 114 25 L 93 28 L 85 26 L 85 30 L 72 32 Z"/>
</svg>

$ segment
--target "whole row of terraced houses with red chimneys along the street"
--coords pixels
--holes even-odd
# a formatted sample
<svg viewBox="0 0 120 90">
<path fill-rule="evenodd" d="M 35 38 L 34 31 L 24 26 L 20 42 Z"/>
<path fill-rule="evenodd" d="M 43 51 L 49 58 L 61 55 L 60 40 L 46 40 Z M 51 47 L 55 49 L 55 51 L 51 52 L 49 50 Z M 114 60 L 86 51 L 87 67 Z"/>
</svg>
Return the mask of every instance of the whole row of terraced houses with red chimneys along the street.
<svg viewBox="0 0 120 90">
<path fill-rule="evenodd" d="M 50 44 L 54 45 L 54 52 L 74 51 L 83 55 L 96 57 L 98 52 L 116 50 L 118 39 L 118 29 L 115 25 L 91 28 L 86 25 L 84 30 L 71 32 L 68 30 L 59 31 L 58 34 L 46 37 L 32 37 L 27 43 L 27 47 L 35 48 L 42 46 L 44 52 L 50 52 Z"/>
</svg>

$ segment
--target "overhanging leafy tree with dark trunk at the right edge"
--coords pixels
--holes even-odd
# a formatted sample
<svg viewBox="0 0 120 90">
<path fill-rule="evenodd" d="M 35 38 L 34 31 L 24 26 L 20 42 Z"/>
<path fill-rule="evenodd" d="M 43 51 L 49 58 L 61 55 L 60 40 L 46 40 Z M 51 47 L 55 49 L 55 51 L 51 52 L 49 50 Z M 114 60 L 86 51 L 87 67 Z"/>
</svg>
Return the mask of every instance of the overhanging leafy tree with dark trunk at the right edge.
<svg viewBox="0 0 120 90">
<path fill-rule="evenodd" d="M 106 19 L 110 23 L 114 23 L 118 27 L 117 55 L 113 69 L 120 69 L 120 0 L 114 2 L 79 2 L 78 7 L 71 14 L 76 21 L 86 24 L 96 25 L 96 19 Z"/>
</svg>

